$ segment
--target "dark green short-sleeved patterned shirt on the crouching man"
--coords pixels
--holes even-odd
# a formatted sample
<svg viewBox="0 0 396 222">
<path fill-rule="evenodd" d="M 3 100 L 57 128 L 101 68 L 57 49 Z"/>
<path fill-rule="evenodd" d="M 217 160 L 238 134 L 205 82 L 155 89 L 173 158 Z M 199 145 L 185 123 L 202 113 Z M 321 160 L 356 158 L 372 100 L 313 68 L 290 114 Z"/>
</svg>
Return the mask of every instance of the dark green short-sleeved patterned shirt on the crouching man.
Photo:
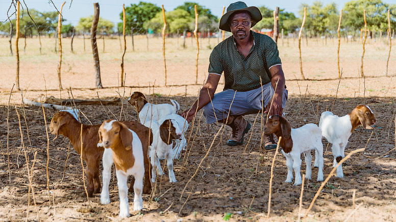
<svg viewBox="0 0 396 222">
<path fill-rule="evenodd" d="M 209 58 L 209 73 L 221 76 L 224 71 L 224 90 L 245 92 L 257 89 L 271 81 L 269 68 L 280 65 L 278 46 L 275 41 L 251 31 L 254 44 L 246 58 L 237 50 L 234 37 L 230 36 L 213 48 Z"/>
</svg>

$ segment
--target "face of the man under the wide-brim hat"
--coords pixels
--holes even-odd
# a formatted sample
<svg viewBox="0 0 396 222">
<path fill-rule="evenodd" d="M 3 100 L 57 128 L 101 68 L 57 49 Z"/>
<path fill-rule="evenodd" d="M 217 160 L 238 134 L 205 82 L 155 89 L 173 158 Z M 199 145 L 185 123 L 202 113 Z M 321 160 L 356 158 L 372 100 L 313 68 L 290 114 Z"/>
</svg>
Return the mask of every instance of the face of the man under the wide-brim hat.
<svg viewBox="0 0 396 222">
<path fill-rule="evenodd" d="M 246 38 L 246 36 L 248 36 L 248 33 L 252 26 L 252 20 L 249 13 L 237 12 L 232 15 L 229 24 L 232 34 L 238 40 L 242 40 Z"/>
</svg>

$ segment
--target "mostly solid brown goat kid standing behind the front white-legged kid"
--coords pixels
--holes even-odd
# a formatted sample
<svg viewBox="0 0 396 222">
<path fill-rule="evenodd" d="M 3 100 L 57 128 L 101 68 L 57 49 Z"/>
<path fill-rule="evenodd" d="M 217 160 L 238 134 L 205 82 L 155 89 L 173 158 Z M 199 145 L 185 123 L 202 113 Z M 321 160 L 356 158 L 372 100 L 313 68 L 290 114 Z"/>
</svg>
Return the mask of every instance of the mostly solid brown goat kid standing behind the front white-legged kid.
<svg viewBox="0 0 396 222">
<path fill-rule="evenodd" d="M 123 121 L 129 128 L 139 128 L 144 127 L 138 122 L 132 121 Z M 104 148 L 97 147 L 97 143 L 99 141 L 98 130 L 101 125 L 85 125 L 83 124 L 83 155 L 82 158 L 86 163 L 85 174 L 87 175 L 87 191 L 88 196 L 92 197 L 93 193 L 101 192 L 101 182 L 99 179 L 99 167 L 100 161 L 103 156 Z M 152 143 L 152 133 L 149 128 L 144 127 L 145 130 L 138 131 L 137 134 L 139 138 L 141 138 L 143 145 L 143 153 L 147 154 L 149 151 L 149 145 Z M 81 154 L 81 140 L 80 140 L 80 129 L 81 124 L 72 114 L 69 112 L 56 112 L 51 120 L 50 124 L 50 132 L 56 137 L 53 139 L 57 139 L 59 135 L 63 135 L 69 138 L 71 144 L 78 154 Z M 151 141 L 148 141 L 145 138 L 148 138 L 150 133 Z M 147 169 L 144 174 L 144 189 L 143 193 L 149 193 L 151 191 L 151 183 L 149 176 L 149 165 L 150 161 L 147 155 L 144 155 L 144 164 L 147 165 Z M 111 167 L 111 166 L 110 166 Z M 131 183 L 133 184 L 133 183 Z M 132 185 L 130 186 L 130 191 L 133 190 Z"/>
</svg>

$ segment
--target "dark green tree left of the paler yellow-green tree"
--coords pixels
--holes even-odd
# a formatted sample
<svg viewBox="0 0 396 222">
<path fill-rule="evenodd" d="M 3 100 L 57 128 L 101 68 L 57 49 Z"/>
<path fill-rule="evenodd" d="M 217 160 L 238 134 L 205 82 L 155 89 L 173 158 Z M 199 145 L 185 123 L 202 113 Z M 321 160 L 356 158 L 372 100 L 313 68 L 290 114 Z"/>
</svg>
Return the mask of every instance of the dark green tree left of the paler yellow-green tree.
<svg viewBox="0 0 396 222">
<path fill-rule="evenodd" d="M 134 27 L 134 33 L 144 33 L 142 31 L 143 23 L 150 21 L 162 9 L 152 3 L 139 2 L 139 4 L 131 4 L 125 8 L 126 33 L 131 34 L 131 27 Z M 122 12 L 119 14 L 122 20 Z M 117 23 L 117 30 L 122 32 L 122 22 Z"/>
</svg>

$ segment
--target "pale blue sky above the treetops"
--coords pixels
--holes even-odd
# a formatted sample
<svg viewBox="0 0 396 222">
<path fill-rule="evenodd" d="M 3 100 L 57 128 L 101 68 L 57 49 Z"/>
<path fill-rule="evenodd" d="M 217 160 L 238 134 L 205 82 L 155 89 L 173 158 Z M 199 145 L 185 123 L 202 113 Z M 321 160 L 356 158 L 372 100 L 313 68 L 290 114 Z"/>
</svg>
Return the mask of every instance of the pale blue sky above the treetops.
<svg viewBox="0 0 396 222">
<path fill-rule="evenodd" d="M 36 9 L 38 11 L 54 11 L 55 8 L 52 3 L 48 0 L 24 0 L 28 5 L 29 9 Z M 179 5 L 183 5 L 184 2 L 197 2 L 200 5 L 209 8 L 212 11 L 212 14 L 216 15 L 217 17 L 221 16 L 222 8 L 225 6 L 227 7 L 235 2 L 233 1 L 226 1 L 226 0 L 149 0 L 143 2 L 150 2 L 159 7 L 164 5 L 166 11 L 171 11 Z M 270 9 L 275 9 L 275 7 L 279 7 L 281 9 L 285 9 L 288 12 L 293 12 L 296 16 L 298 15 L 299 6 L 302 3 L 306 3 L 311 5 L 316 0 L 304 0 L 304 1 L 296 1 L 296 0 L 277 0 L 277 1 L 253 1 L 253 0 L 245 0 L 244 2 L 248 6 L 262 6 L 265 5 Z M 340 10 L 342 6 L 349 2 L 350 0 L 321 0 L 321 2 L 326 5 L 329 3 L 336 3 L 338 9 Z M 0 20 L 4 21 L 7 19 L 7 10 L 10 7 L 11 0 L 0 0 Z M 48 3 L 50 2 L 50 3 Z M 53 0 L 55 6 L 60 9 L 60 6 L 64 2 L 64 0 Z M 65 23 L 72 23 L 76 25 L 81 17 L 85 17 L 88 15 L 93 15 L 93 3 L 98 2 L 100 5 L 100 16 L 102 18 L 108 19 L 114 23 L 120 22 L 119 13 L 122 11 L 122 4 L 125 6 L 129 6 L 130 4 L 138 4 L 139 1 L 134 0 L 73 0 L 71 7 L 69 9 L 71 0 L 67 0 L 65 6 L 63 7 L 63 17 L 67 19 Z M 396 4 L 396 0 L 383 0 L 384 3 L 387 4 Z M 24 7 L 23 1 L 22 6 Z M 10 12 L 12 13 L 15 9 L 11 9 Z M 15 18 L 15 16 L 13 16 Z"/>
</svg>

